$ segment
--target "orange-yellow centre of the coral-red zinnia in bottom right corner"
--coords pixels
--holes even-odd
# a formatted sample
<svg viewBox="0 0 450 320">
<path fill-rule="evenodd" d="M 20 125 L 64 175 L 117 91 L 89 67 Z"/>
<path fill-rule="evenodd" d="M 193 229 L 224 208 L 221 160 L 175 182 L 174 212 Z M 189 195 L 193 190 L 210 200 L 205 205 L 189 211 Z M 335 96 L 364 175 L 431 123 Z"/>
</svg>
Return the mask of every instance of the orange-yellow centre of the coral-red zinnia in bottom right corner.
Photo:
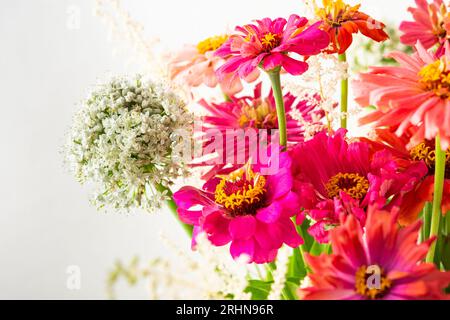
<svg viewBox="0 0 450 320">
<path fill-rule="evenodd" d="M 392 281 L 378 265 L 362 266 L 356 272 L 355 291 L 367 299 L 381 299 L 391 287 Z"/>
</svg>

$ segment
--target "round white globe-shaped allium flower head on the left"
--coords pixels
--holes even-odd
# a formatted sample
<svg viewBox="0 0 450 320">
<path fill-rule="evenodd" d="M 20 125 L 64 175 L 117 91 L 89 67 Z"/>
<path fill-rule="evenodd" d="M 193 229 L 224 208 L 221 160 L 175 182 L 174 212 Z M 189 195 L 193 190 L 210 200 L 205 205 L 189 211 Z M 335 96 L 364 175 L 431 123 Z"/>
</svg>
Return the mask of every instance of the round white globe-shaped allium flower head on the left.
<svg viewBox="0 0 450 320">
<path fill-rule="evenodd" d="M 100 185 L 99 207 L 152 211 L 173 180 L 188 174 L 181 151 L 192 129 L 193 116 L 168 85 L 115 78 L 75 115 L 66 160 L 81 183 Z"/>
</svg>

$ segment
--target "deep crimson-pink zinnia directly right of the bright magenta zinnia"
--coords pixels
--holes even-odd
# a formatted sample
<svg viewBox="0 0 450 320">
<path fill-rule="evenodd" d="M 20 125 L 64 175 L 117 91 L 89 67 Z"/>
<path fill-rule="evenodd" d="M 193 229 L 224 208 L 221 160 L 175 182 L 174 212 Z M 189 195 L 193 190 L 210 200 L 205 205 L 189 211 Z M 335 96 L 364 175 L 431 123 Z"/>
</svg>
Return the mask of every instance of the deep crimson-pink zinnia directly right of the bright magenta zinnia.
<svg viewBox="0 0 450 320">
<path fill-rule="evenodd" d="M 371 154 L 370 145 L 345 140 L 346 130 L 328 136 L 321 132 L 293 150 L 294 190 L 300 205 L 316 221 L 309 233 L 319 242 L 329 241 L 329 230 L 339 225 L 342 215 L 354 215 L 364 225 L 366 208 L 387 204 L 393 195 L 411 191 L 425 175 L 425 169 L 411 167 L 400 172 L 392 154 L 380 150 Z M 299 216 L 301 222 L 302 216 Z"/>
</svg>

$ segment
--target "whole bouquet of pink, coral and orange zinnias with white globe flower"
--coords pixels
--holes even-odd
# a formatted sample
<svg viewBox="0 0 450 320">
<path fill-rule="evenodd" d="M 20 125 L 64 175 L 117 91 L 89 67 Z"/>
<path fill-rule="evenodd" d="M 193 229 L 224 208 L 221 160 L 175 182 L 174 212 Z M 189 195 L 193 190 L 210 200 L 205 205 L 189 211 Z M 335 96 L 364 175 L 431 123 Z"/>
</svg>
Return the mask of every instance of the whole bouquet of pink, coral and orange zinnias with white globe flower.
<svg viewBox="0 0 450 320">
<path fill-rule="evenodd" d="M 182 272 L 118 263 L 111 289 L 144 277 L 153 298 L 449 297 L 450 4 L 416 0 L 401 43 L 383 47 L 402 50 L 358 74 L 353 37 L 383 43 L 386 26 L 343 0 L 310 5 L 186 45 L 167 77 L 117 77 L 83 103 L 66 151 L 95 203 L 168 205 L 191 239 L 192 252 L 172 245 Z"/>
</svg>

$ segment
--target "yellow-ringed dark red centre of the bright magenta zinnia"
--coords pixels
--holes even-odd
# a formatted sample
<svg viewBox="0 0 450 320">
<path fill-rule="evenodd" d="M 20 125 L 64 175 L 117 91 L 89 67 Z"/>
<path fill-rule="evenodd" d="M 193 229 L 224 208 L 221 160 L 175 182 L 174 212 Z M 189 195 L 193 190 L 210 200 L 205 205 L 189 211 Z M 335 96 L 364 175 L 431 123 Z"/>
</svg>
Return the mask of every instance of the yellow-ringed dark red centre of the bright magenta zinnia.
<svg viewBox="0 0 450 320">
<path fill-rule="evenodd" d="M 247 165 L 221 179 L 214 194 L 215 202 L 232 217 L 254 215 L 264 203 L 266 191 L 266 178 Z"/>
</svg>

